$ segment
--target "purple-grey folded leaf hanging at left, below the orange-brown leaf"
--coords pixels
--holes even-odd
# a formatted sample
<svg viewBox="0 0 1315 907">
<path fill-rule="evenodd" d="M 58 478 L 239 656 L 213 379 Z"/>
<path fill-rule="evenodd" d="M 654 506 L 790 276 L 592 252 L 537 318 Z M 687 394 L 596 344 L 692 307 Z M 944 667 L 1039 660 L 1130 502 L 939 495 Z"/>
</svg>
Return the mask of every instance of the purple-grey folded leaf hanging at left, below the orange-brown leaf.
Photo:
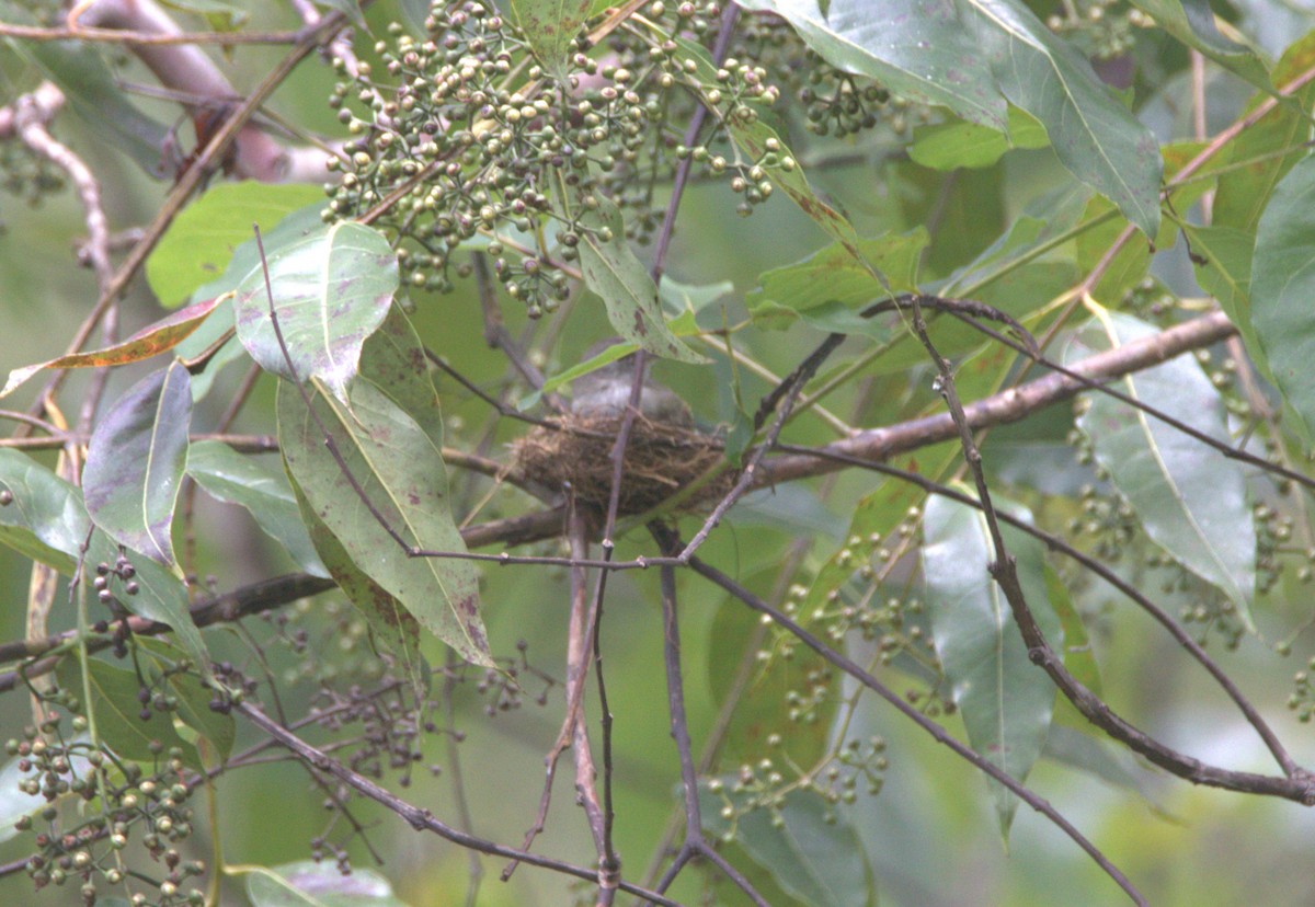
<svg viewBox="0 0 1315 907">
<path fill-rule="evenodd" d="M 189 384 L 175 361 L 129 388 L 96 425 L 83 471 L 96 524 L 166 567 L 178 564 L 171 531 L 192 425 Z"/>
</svg>

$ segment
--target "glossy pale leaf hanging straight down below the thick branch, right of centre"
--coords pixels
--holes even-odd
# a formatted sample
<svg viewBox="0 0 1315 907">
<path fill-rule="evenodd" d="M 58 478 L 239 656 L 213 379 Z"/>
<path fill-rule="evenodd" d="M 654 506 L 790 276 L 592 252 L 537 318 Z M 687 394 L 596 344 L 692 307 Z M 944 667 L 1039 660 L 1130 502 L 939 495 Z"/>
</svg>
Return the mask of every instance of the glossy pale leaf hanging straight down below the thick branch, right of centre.
<svg viewBox="0 0 1315 907">
<path fill-rule="evenodd" d="M 1024 507 L 993 498 L 997 509 L 1031 519 Z M 1015 528 L 1005 526 L 1002 532 L 1018 560 L 1018 578 L 1038 626 L 1063 651 L 1063 631 L 1045 586 L 1044 548 Z M 995 551 L 986 521 L 978 510 L 932 497 L 923 514 L 923 536 L 932 639 L 968 740 L 1011 778 L 1026 781 L 1045 747 L 1055 685 L 1028 660 L 1009 602 L 988 570 Z M 1018 798 L 997 782 L 990 786 L 1001 835 L 1009 837 Z"/>
</svg>

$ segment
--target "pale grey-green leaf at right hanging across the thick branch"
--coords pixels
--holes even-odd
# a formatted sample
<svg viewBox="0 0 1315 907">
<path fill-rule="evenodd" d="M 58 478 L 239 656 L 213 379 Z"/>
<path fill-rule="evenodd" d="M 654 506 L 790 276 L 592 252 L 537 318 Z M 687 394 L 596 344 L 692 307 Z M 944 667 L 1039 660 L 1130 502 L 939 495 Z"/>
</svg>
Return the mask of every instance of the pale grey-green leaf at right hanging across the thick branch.
<svg viewBox="0 0 1315 907">
<path fill-rule="evenodd" d="M 1102 309 L 1069 342 L 1064 358 L 1073 363 L 1155 334 L 1155 327 L 1132 315 Z M 1228 440 L 1219 392 L 1189 356 L 1114 386 L 1197 431 Z M 1089 404 L 1078 427 L 1147 535 L 1219 588 L 1252 628 L 1256 538 L 1241 467 L 1127 404 L 1098 393 L 1089 394 Z"/>
</svg>

